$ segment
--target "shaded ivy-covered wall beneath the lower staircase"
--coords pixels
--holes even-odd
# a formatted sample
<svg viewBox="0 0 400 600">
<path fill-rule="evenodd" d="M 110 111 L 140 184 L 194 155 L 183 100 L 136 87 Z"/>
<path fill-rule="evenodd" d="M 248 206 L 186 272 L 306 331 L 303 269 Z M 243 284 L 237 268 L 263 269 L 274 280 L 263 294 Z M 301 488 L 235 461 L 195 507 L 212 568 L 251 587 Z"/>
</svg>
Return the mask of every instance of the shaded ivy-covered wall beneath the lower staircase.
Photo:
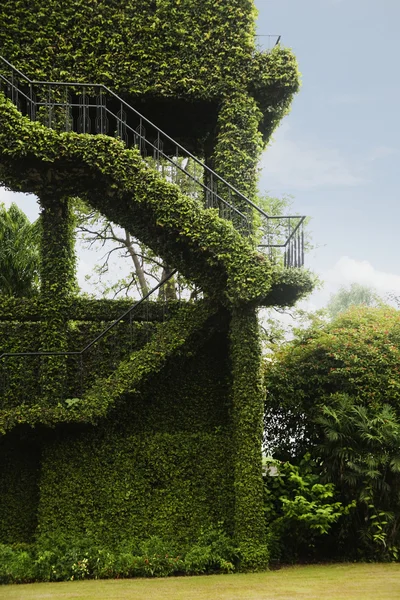
<svg viewBox="0 0 400 600">
<path fill-rule="evenodd" d="M 43 450 L 39 532 L 104 544 L 233 529 L 225 334 L 176 359 L 98 427 L 55 430 Z"/>
</svg>

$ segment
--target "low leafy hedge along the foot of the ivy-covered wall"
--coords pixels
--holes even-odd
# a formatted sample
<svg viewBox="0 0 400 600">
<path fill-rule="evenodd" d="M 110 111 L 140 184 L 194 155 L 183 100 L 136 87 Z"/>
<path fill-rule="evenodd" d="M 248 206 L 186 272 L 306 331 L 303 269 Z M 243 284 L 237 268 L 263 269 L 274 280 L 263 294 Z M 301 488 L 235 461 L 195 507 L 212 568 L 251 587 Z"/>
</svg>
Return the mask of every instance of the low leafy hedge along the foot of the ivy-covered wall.
<svg viewBox="0 0 400 600">
<path fill-rule="evenodd" d="M 239 556 L 222 527 L 202 531 L 194 544 L 151 537 L 115 548 L 90 538 L 52 536 L 35 545 L 0 545 L 0 583 L 230 573 Z"/>
</svg>

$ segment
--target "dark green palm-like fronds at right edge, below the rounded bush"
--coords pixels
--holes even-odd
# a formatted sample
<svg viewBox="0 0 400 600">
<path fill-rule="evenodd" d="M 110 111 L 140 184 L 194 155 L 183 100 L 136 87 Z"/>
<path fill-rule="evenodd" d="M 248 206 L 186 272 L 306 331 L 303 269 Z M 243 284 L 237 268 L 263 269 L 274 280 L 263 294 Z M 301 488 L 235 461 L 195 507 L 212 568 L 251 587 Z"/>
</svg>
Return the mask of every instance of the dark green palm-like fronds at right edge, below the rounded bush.
<svg viewBox="0 0 400 600">
<path fill-rule="evenodd" d="M 320 446 L 325 476 L 335 481 L 356 512 L 341 531 L 348 556 L 398 559 L 400 551 L 400 418 L 384 404 L 360 406 L 338 394 L 317 420 L 324 431 Z M 350 530 L 346 531 L 346 526 Z M 360 542 L 357 540 L 360 536 Z M 349 538 L 351 543 L 349 543 Z"/>
</svg>

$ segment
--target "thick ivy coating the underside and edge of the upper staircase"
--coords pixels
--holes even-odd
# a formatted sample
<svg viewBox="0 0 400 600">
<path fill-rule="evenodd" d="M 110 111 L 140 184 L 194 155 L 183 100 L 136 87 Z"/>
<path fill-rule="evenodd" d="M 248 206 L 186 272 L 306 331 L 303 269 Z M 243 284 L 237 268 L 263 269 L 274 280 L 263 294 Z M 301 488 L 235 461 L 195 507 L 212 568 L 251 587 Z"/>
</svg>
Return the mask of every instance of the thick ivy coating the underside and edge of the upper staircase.
<svg viewBox="0 0 400 600">
<path fill-rule="evenodd" d="M 52 189 L 55 198 L 84 197 L 227 305 L 262 303 L 277 278 L 231 222 L 182 194 L 118 140 L 57 133 L 21 117 L 0 96 L 0 160 L 3 184 L 39 197 L 52 197 Z M 300 279 L 302 294 L 310 278 Z"/>
</svg>

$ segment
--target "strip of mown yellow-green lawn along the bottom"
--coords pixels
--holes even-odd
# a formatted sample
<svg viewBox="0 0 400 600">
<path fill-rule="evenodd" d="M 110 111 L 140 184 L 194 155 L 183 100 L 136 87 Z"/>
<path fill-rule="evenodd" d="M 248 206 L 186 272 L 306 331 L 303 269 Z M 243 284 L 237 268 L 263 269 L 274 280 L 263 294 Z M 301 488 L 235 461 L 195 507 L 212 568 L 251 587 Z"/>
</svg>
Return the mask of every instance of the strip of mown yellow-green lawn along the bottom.
<svg viewBox="0 0 400 600">
<path fill-rule="evenodd" d="M 0 586 L 1 600 L 400 600 L 400 564 Z"/>
</svg>

